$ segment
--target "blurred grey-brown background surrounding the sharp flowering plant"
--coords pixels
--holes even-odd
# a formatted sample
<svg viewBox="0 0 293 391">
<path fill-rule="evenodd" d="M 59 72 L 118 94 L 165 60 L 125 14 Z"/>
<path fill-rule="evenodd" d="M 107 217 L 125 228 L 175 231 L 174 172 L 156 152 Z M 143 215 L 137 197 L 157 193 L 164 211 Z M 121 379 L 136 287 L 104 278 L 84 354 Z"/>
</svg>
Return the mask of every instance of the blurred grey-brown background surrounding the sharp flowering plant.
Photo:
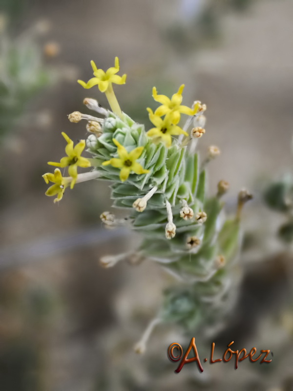
<svg viewBox="0 0 293 391">
<path fill-rule="evenodd" d="M 292 21 L 292 0 L 0 0 L 0 390 L 293 390 L 292 249 L 276 235 L 284 217 L 261 197 L 292 171 Z M 219 354 L 232 340 L 271 349 L 271 364 L 175 374 L 166 352 L 182 337 L 172 327 L 158 327 L 137 356 L 170 277 L 147 262 L 101 268 L 102 255 L 138 240 L 101 226 L 107 184 L 76 186 L 60 204 L 44 195 L 61 131 L 86 137 L 67 115 L 88 112 L 84 97 L 107 107 L 76 80 L 91 77 L 90 60 L 105 69 L 115 56 L 127 73 L 116 88 L 123 111 L 150 127 L 152 87 L 168 95 L 185 83 L 184 104 L 208 107 L 200 151 L 222 152 L 209 167 L 211 192 L 230 182 L 228 212 L 240 188 L 254 193 L 239 302 L 211 342 Z"/>
</svg>

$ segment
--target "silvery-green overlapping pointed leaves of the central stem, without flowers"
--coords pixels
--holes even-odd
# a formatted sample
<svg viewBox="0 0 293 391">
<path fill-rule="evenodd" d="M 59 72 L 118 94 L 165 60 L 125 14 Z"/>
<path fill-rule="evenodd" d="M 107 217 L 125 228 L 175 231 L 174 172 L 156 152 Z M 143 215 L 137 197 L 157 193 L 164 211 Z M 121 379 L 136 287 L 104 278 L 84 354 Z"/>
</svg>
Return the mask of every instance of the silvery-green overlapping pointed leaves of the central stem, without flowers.
<svg viewBox="0 0 293 391">
<path fill-rule="evenodd" d="M 164 293 L 159 317 L 192 329 L 201 323 L 218 319 L 230 309 L 233 289 L 232 261 L 239 245 L 239 219 L 225 220 L 223 202 L 219 196 L 207 198 L 206 170 L 201 170 L 199 155 L 181 147 L 173 140 L 170 148 L 164 143 L 155 144 L 145 132 L 144 126 L 125 115 L 122 120 L 109 113 L 103 125 L 103 135 L 93 142 L 90 135 L 89 149 L 96 159 L 99 179 L 111 180 L 111 197 L 115 207 L 130 210 L 132 228 L 142 234 L 139 254 L 162 263 L 162 266 L 178 279 L 174 287 Z M 138 163 L 148 174 L 130 174 L 126 182 L 119 179 L 120 170 L 102 162 L 118 157 L 113 138 L 127 152 L 143 146 Z M 156 193 L 147 201 L 140 213 L 133 209 L 133 202 L 142 198 L 156 186 Z M 196 218 L 180 217 L 182 200 L 188 202 L 194 216 L 207 213 L 207 221 L 199 224 Z M 166 201 L 170 202 L 176 235 L 166 239 Z M 196 236 L 201 244 L 188 249 L 188 237 Z M 225 264 L 218 263 L 218 257 Z M 227 308 L 228 306 L 228 308 Z"/>
</svg>

